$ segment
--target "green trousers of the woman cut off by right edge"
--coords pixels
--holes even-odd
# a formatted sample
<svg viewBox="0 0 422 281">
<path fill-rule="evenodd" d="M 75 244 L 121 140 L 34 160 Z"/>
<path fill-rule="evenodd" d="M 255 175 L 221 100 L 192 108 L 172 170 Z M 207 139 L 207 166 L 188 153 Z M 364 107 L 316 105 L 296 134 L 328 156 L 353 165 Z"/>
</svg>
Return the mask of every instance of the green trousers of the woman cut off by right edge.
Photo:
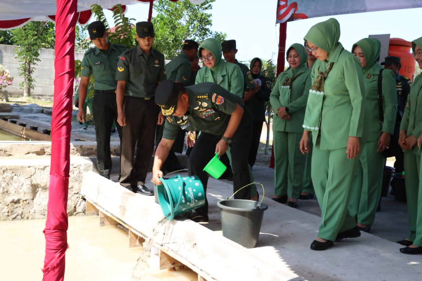
<svg viewBox="0 0 422 281">
<path fill-rule="evenodd" d="M 407 218 L 409 236 L 416 246 L 422 246 L 422 188 L 420 186 L 421 156 L 412 152 L 404 153 L 404 171 L 406 172 Z"/>
</svg>

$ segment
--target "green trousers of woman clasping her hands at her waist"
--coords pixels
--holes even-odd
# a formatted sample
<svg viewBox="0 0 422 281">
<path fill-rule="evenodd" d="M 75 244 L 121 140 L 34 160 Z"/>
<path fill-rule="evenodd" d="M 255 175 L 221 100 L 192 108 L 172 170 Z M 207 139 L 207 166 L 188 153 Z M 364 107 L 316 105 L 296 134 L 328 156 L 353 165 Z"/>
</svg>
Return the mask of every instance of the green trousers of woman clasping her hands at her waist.
<svg viewBox="0 0 422 281">
<path fill-rule="evenodd" d="M 306 161 L 306 156 L 299 149 L 301 138 L 299 133 L 273 131 L 276 196 L 299 197 Z"/>
</svg>

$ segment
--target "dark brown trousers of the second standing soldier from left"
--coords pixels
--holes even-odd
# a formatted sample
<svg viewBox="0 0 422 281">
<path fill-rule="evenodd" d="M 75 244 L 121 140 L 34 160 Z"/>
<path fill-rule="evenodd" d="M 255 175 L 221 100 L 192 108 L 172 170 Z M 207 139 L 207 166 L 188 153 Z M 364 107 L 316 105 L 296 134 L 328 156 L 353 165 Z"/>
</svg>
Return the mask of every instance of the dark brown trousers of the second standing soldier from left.
<svg viewBox="0 0 422 281">
<path fill-rule="evenodd" d="M 158 105 L 154 98 L 149 100 L 126 96 L 123 112 L 126 126 L 123 127 L 120 185 L 143 185 L 148 173 L 154 150 L 155 127 L 157 126 Z M 136 157 L 135 157 L 136 147 Z"/>
</svg>

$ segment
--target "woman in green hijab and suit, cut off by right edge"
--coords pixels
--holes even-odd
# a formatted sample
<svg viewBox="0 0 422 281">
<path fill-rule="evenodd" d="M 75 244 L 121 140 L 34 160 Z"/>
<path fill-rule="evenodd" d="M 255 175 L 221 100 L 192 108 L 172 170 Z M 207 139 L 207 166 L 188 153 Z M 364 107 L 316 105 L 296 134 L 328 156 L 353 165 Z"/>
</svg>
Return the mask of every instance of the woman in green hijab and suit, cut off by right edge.
<svg viewBox="0 0 422 281">
<path fill-rule="evenodd" d="M 412 41 L 412 51 L 419 67 L 422 67 L 422 37 Z M 422 78 L 416 76 L 407 97 L 403 119 L 400 123 L 399 145 L 404 150 L 404 170 L 406 171 L 407 217 L 409 235 L 397 241 L 406 247 L 403 254 L 422 254 L 422 157 L 417 148 L 416 138 L 422 138 Z M 420 145 L 420 140 L 419 140 Z"/>
</svg>

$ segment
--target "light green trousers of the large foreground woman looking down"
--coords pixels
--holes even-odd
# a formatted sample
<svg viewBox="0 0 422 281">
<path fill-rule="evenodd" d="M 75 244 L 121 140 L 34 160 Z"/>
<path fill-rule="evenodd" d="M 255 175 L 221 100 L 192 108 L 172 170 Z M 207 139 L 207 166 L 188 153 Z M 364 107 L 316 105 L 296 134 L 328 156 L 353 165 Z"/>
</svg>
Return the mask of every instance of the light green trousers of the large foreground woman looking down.
<svg viewBox="0 0 422 281">
<path fill-rule="evenodd" d="M 349 214 L 349 196 L 359 155 L 347 159 L 346 147 L 312 152 L 312 182 L 321 208 L 318 237 L 334 241 L 338 232 L 356 226 Z"/>
</svg>

